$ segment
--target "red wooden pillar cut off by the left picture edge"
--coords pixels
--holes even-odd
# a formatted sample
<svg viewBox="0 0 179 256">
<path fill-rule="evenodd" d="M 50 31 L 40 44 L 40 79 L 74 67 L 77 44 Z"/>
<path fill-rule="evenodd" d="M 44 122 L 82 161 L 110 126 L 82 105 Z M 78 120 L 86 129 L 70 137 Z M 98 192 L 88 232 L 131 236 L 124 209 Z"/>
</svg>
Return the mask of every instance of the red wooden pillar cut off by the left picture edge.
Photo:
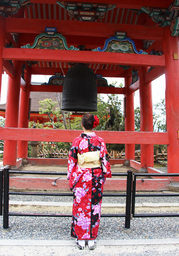
<svg viewBox="0 0 179 256">
<path fill-rule="evenodd" d="M 5 45 L 5 17 L 0 15 L 0 97 L 1 97 L 1 82 L 3 72 L 3 47 Z"/>
</svg>

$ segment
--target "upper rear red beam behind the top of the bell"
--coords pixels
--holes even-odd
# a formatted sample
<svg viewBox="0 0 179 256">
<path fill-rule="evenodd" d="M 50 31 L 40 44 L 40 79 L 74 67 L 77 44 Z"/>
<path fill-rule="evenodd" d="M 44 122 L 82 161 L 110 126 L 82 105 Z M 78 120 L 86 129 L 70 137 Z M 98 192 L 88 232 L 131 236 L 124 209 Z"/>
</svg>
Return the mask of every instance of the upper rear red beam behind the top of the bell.
<svg viewBox="0 0 179 256">
<path fill-rule="evenodd" d="M 65 74 L 67 70 L 68 68 L 63 68 Z M 54 75 L 55 73 L 59 73 L 59 68 L 32 67 L 32 75 Z M 124 77 L 124 70 L 97 69 L 96 74 L 101 74 L 102 77 Z"/>
</svg>

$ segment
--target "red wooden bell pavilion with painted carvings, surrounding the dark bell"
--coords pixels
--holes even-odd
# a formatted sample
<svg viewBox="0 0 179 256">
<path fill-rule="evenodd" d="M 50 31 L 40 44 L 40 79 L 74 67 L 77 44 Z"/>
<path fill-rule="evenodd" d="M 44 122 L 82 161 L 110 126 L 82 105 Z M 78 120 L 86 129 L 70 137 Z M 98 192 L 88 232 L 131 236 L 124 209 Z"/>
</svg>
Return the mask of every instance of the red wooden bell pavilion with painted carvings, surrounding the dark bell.
<svg viewBox="0 0 179 256">
<path fill-rule="evenodd" d="M 179 172 L 179 1 L 2 0 L 0 24 L 0 81 L 3 71 L 9 75 L 5 127 L 0 128 L 3 165 L 14 169 L 23 159 L 29 162 L 28 141 L 71 142 L 79 136 L 76 130 L 28 128 L 30 92 L 63 89 L 60 80 L 33 85 L 31 75 L 65 76 L 75 63 L 87 63 L 96 75 L 124 78 L 123 88 L 97 86 L 98 93 L 125 95 L 125 131 L 96 131 L 106 143 L 126 144 L 125 159 L 111 164 L 116 160 L 155 173 L 153 145 L 167 144 L 168 172 Z M 167 132 L 153 132 L 151 82 L 164 73 Z M 140 132 L 134 131 L 136 90 Z M 135 161 L 135 144 L 141 144 L 141 163 Z M 178 177 L 144 183 L 137 186 L 179 191 Z"/>
</svg>

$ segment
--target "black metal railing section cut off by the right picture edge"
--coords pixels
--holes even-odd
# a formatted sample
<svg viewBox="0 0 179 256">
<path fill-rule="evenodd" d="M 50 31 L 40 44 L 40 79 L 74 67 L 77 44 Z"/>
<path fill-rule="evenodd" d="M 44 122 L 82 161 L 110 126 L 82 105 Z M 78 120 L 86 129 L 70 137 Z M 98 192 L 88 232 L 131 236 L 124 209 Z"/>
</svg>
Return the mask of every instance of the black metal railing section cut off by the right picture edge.
<svg viewBox="0 0 179 256">
<path fill-rule="evenodd" d="M 133 185 L 132 185 L 132 207 L 131 207 L 131 220 L 133 218 L 141 217 L 179 217 L 178 213 L 173 214 L 135 214 L 135 198 L 136 197 L 158 197 L 158 196 L 179 196 L 179 194 L 136 194 L 136 178 L 137 177 L 179 177 L 179 173 L 133 173 Z"/>
</svg>

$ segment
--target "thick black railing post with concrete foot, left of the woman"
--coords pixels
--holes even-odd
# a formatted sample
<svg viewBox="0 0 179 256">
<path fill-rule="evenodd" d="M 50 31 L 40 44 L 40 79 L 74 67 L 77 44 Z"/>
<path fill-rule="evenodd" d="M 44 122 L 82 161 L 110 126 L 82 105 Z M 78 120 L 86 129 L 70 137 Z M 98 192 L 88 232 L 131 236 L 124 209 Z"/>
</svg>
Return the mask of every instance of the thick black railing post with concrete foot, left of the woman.
<svg viewBox="0 0 179 256">
<path fill-rule="evenodd" d="M 4 168 L 4 195 L 3 195 L 3 232 L 10 231 L 9 228 L 9 168 Z"/>
</svg>

